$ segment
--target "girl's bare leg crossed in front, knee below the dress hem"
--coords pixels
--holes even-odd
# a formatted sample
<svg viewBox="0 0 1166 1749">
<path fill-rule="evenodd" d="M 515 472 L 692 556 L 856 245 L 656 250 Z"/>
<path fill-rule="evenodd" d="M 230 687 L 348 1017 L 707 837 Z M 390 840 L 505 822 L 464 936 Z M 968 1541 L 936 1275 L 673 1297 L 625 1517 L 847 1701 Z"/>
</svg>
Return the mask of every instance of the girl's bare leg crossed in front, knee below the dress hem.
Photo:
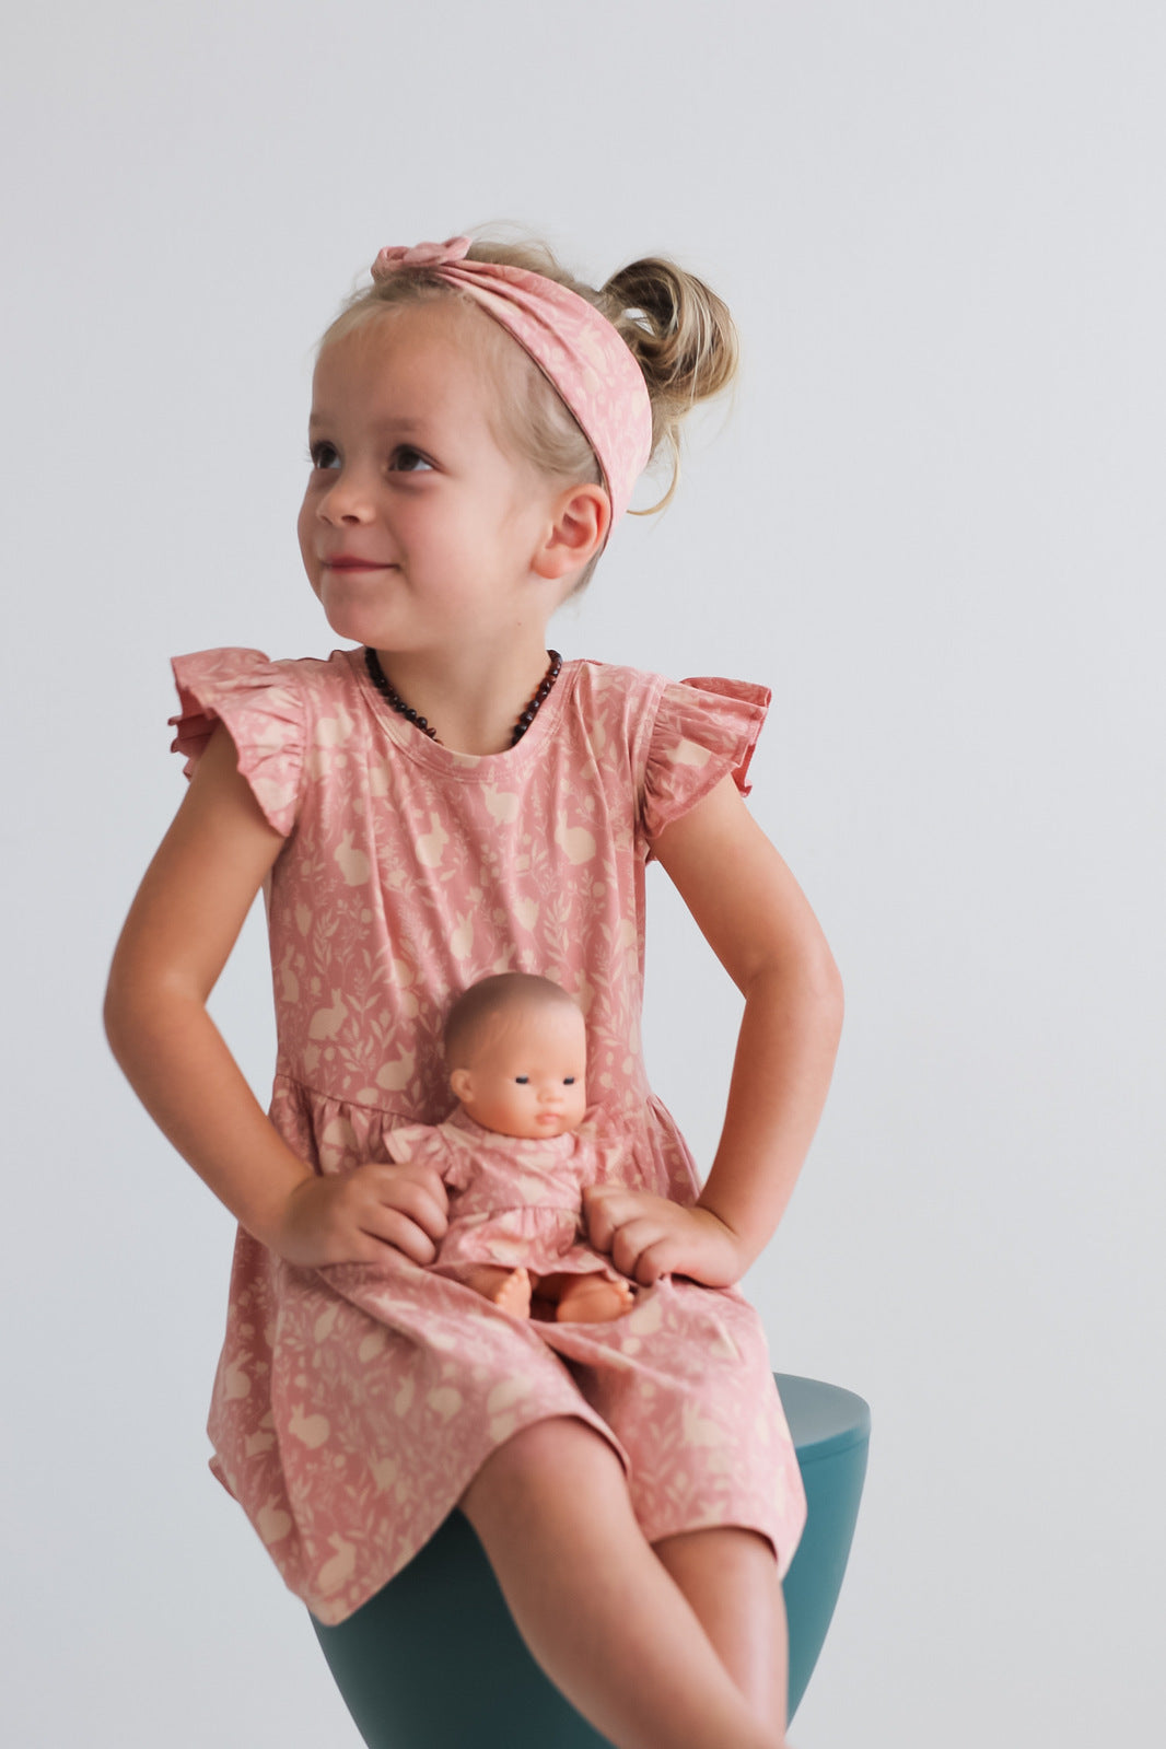
<svg viewBox="0 0 1166 1749">
<path fill-rule="evenodd" d="M 537 1422 L 462 1497 L 531 1655 L 619 1749 L 781 1749 L 631 1511 L 612 1446 Z"/>
</svg>

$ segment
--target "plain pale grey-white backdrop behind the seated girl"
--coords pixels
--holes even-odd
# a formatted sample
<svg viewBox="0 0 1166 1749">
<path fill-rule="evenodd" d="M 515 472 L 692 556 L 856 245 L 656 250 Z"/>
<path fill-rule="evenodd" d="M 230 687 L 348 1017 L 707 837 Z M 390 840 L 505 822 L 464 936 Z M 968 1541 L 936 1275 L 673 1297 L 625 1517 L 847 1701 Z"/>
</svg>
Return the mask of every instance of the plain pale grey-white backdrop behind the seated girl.
<svg viewBox="0 0 1166 1749">
<path fill-rule="evenodd" d="M 745 334 L 559 647 L 764 680 L 753 806 L 848 986 L 748 1279 L 872 1404 L 801 1749 L 1149 1740 L 1161 1669 L 1166 14 L 42 0 L 5 24 L 3 1693 L 19 1749 L 355 1746 L 205 1469 L 231 1224 L 121 1083 L 173 651 L 332 647 L 309 350 L 386 241 L 673 252 Z M 736 999 L 657 878 L 706 1160 Z M 215 1011 L 266 1091 L 252 920 Z M 1157 1366 L 1150 1359 L 1157 1359 Z"/>
</svg>

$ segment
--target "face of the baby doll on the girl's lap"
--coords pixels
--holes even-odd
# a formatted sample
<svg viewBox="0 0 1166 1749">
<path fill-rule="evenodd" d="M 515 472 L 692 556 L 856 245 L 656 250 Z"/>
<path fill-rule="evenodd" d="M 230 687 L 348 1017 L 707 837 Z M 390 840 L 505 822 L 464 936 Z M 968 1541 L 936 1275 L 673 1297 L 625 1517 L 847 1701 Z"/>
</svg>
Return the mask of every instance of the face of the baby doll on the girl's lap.
<svg viewBox="0 0 1166 1749">
<path fill-rule="evenodd" d="M 498 1135 L 573 1130 L 587 1105 L 587 1032 L 577 1007 L 517 1006 L 496 1014 L 449 1077 L 465 1112 Z"/>
</svg>

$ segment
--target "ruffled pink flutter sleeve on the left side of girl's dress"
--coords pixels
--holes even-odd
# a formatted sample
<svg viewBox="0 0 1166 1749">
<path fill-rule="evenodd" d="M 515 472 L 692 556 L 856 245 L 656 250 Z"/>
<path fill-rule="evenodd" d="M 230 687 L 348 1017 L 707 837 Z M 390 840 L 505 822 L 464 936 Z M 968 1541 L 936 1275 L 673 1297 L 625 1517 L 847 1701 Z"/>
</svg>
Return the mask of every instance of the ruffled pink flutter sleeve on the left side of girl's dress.
<svg viewBox="0 0 1166 1749">
<path fill-rule="evenodd" d="M 260 651 L 199 651 L 171 661 L 180 712 L 171 752 L 185 754 L 185 775 L 224 722 L 267 824 L 287 838 L 295 824 L 304 778 L 304 694 L 294 663 L 267 661 Z"/>
</svg>

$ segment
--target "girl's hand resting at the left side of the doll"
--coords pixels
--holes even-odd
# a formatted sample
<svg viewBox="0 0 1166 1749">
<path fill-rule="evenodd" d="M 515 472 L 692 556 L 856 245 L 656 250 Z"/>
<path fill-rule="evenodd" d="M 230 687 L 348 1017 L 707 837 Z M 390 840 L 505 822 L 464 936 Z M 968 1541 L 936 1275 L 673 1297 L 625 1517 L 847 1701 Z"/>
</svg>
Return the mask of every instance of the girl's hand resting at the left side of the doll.
<svg viewBox="0 0 1166 1749">
<path fill-rule="evenodd" d="M 264 1237 L 288 1263 L 381 1263 L 397 1251 L 413 1263 L 437 1256 L 449 1202 L 441 1175 L 420 1161 L 371 1161 L 336 1175 L 304 1179 Z"/>
</svg>

